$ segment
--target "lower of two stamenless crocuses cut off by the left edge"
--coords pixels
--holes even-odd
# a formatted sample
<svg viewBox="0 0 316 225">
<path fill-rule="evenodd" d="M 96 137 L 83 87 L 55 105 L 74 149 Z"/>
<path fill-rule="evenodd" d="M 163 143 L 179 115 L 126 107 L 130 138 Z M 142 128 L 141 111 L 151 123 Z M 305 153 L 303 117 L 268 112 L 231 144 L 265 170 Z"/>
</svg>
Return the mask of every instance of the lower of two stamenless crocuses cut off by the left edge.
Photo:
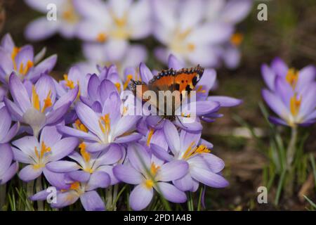
<svg viewBox="0 0 316 225">
<path fill-rule="evenodd" d="M 11 146 L 0 144 L 0 185 L 6 184 L 18 171 L 18 162 L 13 162 Z"/>
</svg>

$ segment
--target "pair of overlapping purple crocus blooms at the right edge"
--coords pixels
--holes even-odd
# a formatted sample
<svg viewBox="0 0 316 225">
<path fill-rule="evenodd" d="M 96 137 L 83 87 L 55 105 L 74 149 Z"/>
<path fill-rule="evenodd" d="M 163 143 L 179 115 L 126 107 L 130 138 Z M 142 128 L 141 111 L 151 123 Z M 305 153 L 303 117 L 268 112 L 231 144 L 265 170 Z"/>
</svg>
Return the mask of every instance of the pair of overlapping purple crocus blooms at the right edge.
<svg viewBox="0 0 316 225">
<path fill-rule="evenodd" d="M 294 127 L 310 125 L 316 119 L 316 69 L 309 65 L 301 70 L 288 68 L 283 60 L 275 58 L 271 68 L 263 65 L 263 79 L 268 89 L 263 89 L 263 98 L 280 117 L 270 116 L 270 121 Z"/>
</svg>

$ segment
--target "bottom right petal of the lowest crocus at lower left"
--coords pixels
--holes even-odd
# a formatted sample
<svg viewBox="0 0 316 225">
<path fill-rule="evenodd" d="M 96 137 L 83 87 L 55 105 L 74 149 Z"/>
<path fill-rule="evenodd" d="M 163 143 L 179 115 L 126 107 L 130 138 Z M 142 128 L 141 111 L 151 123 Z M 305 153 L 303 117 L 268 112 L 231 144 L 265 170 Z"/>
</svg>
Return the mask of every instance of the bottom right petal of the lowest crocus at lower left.
<svg viewBox="0 0 316 225">
<path fill-rule="evenodd" d="M 96 191 L 88 191 L 80 196 L 81 204 L 86 211 L 105 211 L 105 205 Z"/>
</svg>

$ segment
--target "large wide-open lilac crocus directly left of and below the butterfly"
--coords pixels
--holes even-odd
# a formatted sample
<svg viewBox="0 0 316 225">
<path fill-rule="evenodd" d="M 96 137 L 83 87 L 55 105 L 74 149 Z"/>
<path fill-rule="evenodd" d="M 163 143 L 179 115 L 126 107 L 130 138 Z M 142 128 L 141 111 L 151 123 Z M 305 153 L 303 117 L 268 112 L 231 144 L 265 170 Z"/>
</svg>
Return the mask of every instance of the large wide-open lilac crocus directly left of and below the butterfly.
<svg viewBox="0 0 316 225">
<path fill-rule="evenodd" d="M 114 93 L 105 100 L 101 113 L 96 113 L 84 103 L 77 103 L 76 113 L 79 120 L 74 124 L 75 129 L 58 126 L 58 130 L 84 139 L 88 152 L 105 150 L 111 143 L 129 143 L 141 138 L 141 134 L 132 133 L 140 116 L 121 115 L 118 94 Z"/>
</svg>

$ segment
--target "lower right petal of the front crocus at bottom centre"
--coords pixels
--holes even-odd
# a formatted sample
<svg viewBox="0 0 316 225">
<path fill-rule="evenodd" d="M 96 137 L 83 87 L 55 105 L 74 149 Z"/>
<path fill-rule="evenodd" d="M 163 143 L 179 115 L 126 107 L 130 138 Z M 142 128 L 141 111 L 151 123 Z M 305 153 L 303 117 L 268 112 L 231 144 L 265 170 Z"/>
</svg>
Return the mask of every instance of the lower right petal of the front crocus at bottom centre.
<svg viewBox="0 0 316 225">
<path fill-rule="evenodd" d="M 162 194 L 162 196 L 164 196 L 164 198 L 169 200 L 171 203 L 185 203 L 187 200 L 185 193 L 180 191 L 172 184 L 158 182 L 157 186 L 159 187 L 159 192 Z"/>
</svg>

